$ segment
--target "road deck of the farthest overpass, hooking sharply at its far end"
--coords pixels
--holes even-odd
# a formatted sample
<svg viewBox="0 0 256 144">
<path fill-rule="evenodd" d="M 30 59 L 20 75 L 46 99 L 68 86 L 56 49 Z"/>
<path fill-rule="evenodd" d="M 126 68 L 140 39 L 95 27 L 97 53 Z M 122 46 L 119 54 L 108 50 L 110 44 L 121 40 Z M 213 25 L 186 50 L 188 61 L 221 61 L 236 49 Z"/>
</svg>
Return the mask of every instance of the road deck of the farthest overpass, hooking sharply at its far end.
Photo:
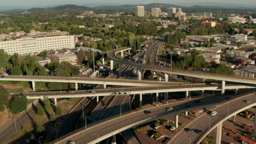
<svg viewBox="0 0 256 144">
<path fill-rule="evenodd" d="M 107 56 L 113 61 L 121 64 L 129 65 L 131 67 L 138 67 L 141 69 L 160 71 L 162 73 L 172 73 L 176 75 L 198 77 L 200 79 L 213 79 L 213 80 L 220 80 L 220 81 L 241 82 L 241 83 L 250 83 L 254 85 L 256 84 L 256 81 L 251 78 L 245 78 L 240 76 L 219 75 L 219 74 L 211 74 L 211 73 L 200 73 L 200 72 L 189 71 L 189 70 L 177 70 L 177 69 L 171 69 L 167 67 L 159 67 L 156 65 L 146 65 L 146 64 L 132 62 L 132 61 L 115 56 L 115 53 L 118 53 L 123 50 L 127 50 L 127 47 L 108 51 Z"/>
</svg>

